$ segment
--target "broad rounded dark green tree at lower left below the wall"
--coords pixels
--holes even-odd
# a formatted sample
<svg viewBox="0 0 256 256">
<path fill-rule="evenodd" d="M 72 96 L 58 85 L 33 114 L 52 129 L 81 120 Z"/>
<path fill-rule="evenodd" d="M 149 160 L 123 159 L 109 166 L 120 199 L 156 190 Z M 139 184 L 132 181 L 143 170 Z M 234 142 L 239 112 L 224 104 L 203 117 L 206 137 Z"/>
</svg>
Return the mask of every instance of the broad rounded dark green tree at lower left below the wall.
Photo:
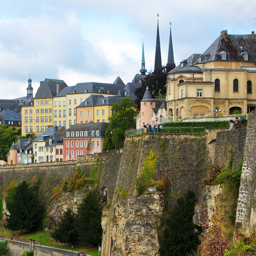
<svg viewBox="0 0 256 256">
<path fill-rule="evenodd" d="M 42 222 L 44 207 L 38 200 L 38 187 L 23 181 L 7 191 L 5 227 L 9 230 L 35 230 Z"/>
</svg>

